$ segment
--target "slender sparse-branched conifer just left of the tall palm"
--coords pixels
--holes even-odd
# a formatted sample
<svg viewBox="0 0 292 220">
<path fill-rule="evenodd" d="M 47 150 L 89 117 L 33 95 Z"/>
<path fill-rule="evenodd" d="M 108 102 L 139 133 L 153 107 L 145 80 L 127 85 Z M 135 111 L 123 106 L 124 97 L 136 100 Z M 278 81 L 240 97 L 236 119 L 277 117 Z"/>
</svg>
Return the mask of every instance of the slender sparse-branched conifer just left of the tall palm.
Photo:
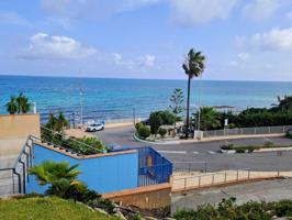
<svg viewBox="0 0 292 220">
<path fill-rule="evenodd" d="M 170 96 L 170 102 L 171 105 L 169 106 L 169 109 L 171 110 L 171 112 L 176 116 L 176 121 L 173 123 L 173 130 L 176 132 L 176 127 L 177 127 L 177 121 L 178 121 L 178 116 L 183 111 L 183 92 L 181 89 L 176 88 L 172 92 L 172 95 Z"/>
</svg>

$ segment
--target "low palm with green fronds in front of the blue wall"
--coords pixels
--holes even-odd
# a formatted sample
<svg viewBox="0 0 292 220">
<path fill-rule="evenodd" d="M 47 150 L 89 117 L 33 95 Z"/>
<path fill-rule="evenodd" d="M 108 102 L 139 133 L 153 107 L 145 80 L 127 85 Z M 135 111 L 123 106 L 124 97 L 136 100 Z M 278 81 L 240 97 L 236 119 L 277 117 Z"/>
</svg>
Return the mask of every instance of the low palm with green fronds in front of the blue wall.
<svg viewBox="0 0 292 220">
<path fill-rule="evenodd" d="M 67 162 L 44 161 L 42 164 L 30 168 L 30 174 L 35 175 L 38 184 L 49 185 L 46 194 L 61 198 L 75 198 L 76 194 L 87 189 L 87 186 L 77 180 L 79 170 L 77 165 L 70 166 Z"/>
</svg>

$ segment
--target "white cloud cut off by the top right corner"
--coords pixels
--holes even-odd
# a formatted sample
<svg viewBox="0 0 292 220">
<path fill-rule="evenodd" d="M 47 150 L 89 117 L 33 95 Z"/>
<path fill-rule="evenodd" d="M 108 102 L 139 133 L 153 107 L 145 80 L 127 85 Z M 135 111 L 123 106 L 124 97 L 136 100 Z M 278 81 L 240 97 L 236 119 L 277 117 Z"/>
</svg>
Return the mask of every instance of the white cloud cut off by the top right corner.
<svg viewBox="0 0 292 220">
<path fill-rule="evenodd" d="M 252 0 L 244 7 L 243 15 L 250 20 L 262 21 L 289 4 L 291 0 Z"/>
</svg>

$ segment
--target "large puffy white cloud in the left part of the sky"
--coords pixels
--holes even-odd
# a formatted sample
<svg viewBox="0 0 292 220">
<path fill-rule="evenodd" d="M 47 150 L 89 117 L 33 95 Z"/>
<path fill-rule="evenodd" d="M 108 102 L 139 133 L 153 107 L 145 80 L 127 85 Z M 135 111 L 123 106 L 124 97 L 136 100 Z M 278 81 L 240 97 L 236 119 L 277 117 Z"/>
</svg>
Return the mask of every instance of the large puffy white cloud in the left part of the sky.
<svg viewBox="0 0 292 220">
<path fill-rule="evenodd" d="M 96 54 L 92 47 L 86 47 L 74 38 L 63 35 L 36 33 L 30 38 L 30 46 L 19 54 L 22 58 L 81 59 Z"/>
</svg>

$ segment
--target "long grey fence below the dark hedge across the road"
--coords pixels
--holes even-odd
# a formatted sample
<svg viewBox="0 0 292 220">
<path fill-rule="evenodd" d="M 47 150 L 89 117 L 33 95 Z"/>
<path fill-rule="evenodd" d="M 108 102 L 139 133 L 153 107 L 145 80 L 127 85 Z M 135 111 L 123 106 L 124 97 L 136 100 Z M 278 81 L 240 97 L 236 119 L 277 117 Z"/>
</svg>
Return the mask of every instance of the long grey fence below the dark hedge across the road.
<svg viewBox="0 0 292 220">
<path fill-rule="evenodd" d="M 212 131 L 203 131 L 203 138 L 255 135 L 255 134 L 282 134 L 290 129 L 292 129 L 292 125 L 212 130 Z"/>
</svg>

